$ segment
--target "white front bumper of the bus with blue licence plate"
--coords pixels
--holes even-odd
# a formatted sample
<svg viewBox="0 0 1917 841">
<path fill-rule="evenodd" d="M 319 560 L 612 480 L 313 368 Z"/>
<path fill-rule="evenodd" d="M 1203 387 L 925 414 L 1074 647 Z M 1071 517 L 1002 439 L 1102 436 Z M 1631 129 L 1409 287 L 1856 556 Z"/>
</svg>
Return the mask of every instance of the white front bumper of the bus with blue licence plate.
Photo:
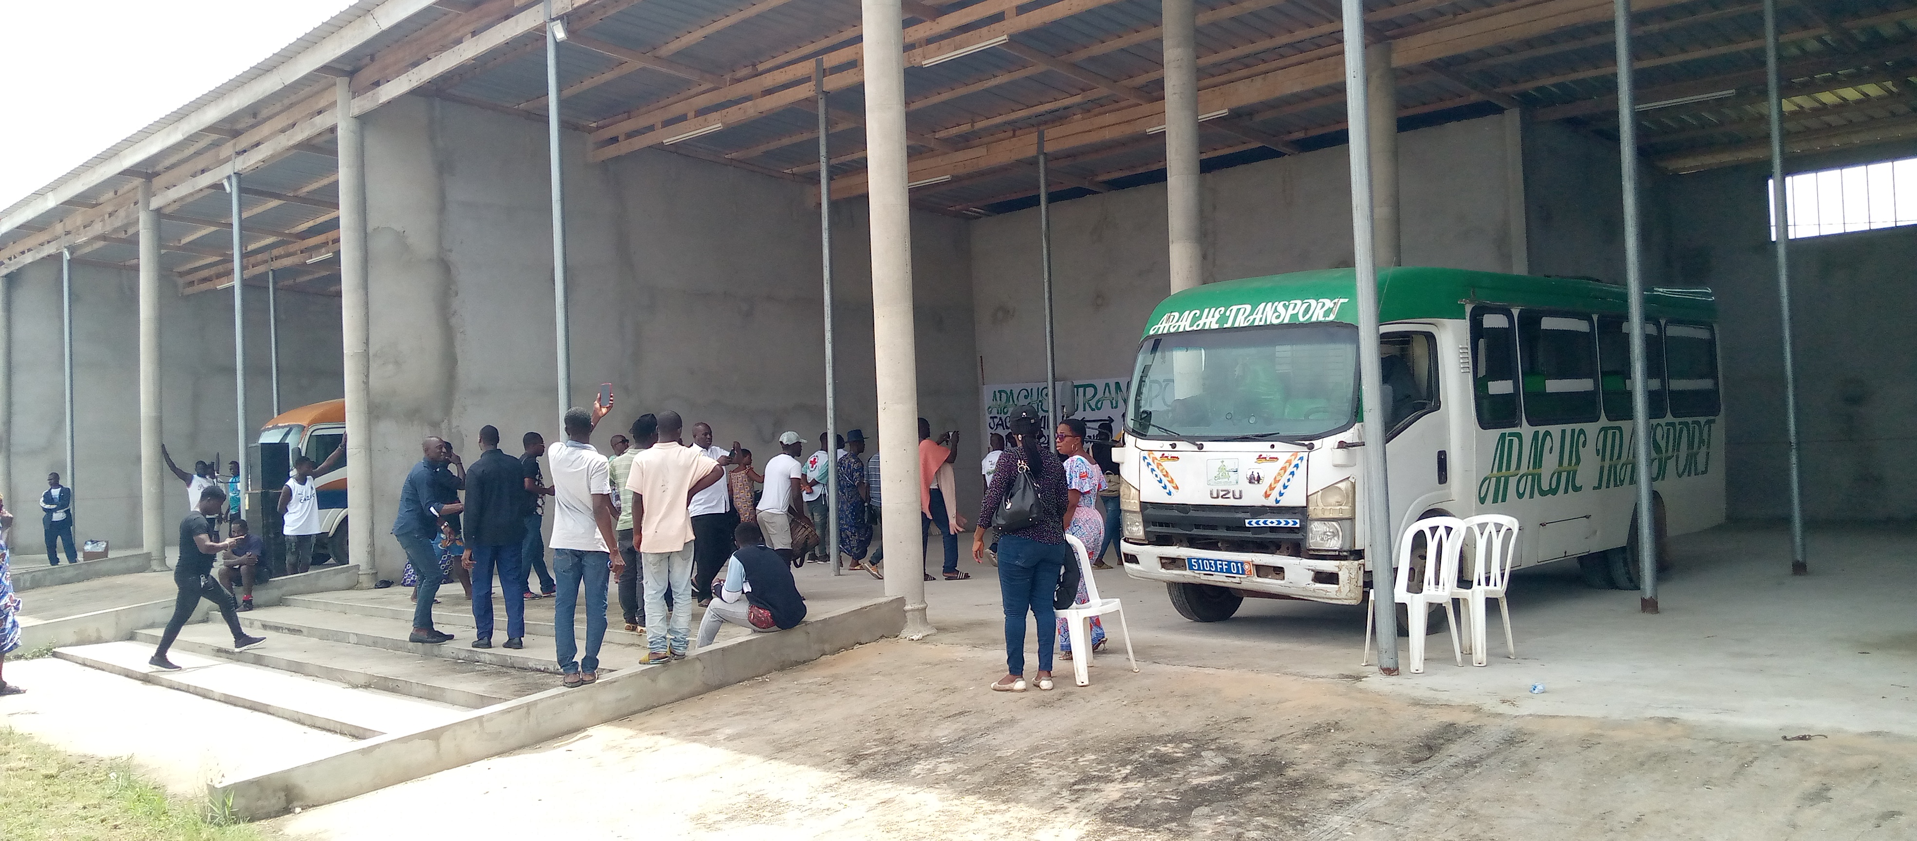
<svg viewBox="0 0 1917 841">
<path fill-rule="evenodd" d="M 1212 552 L 1120 542 L 1125 575 L 1143 580 L 1212 584 L 1248 596 L 1300 598 L 1355 605 L 1365 600 L 1365 561 L 1258 552 Z M 1187 557 L 1244 561 L 1248 575 L 1192 573 Z"/>
</svg>

